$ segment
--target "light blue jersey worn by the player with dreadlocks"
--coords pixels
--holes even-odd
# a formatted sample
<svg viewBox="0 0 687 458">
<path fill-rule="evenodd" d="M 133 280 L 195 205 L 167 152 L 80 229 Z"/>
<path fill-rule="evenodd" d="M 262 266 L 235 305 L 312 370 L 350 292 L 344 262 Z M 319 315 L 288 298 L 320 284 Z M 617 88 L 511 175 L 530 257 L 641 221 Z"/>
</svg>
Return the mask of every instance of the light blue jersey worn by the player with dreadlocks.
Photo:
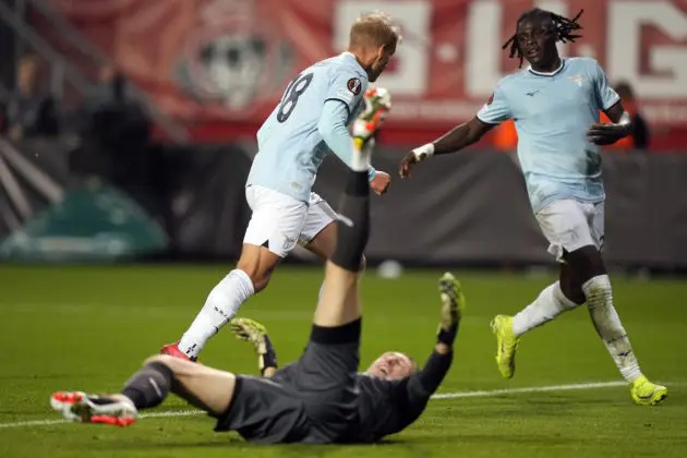
<svg viewBox="0 0 687 458">
<path fill-rule="evenodd" d="M 564 59 L 552 73 L 531 69 L 504 77 L 478 112 L 482 122 L 514 119 L 518 159 L 534 213 L 552 201 L 602 202 L 599 146 L 587 130 L 619 101 L 594 59 Z"/>
</svg>

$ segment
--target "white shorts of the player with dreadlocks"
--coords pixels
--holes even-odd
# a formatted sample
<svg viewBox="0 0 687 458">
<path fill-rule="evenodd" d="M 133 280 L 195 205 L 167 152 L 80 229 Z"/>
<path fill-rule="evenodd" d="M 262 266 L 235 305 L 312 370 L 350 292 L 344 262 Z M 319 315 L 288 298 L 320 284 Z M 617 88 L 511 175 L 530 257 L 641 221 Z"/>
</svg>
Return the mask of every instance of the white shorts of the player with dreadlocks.
<svg viewBox="0 0 687 458">
<path fill-rule="evenodd" d="M 564 250 L 571 252 L 586 245 L 601 251 L 604 237 L 603 202 L 554 201 L 534 217 L 549 240 L 549 253 L 563 261 Z"/>
</svg>

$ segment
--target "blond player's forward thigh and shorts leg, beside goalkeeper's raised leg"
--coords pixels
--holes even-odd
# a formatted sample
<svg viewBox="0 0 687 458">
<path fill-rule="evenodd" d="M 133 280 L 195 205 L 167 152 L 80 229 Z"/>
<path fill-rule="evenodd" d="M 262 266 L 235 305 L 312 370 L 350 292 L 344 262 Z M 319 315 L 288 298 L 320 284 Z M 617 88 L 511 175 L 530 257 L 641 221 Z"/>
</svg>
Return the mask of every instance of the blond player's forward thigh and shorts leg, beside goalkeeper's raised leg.
<svg viewBox="0 0 687 458">
<path fill-rule="evenodd" d="M 299 244 L 326 261 L 336 249 L 337 213 L 318 194 L 311 193 L 308 215 L 299 238 Z"/>
</svg>

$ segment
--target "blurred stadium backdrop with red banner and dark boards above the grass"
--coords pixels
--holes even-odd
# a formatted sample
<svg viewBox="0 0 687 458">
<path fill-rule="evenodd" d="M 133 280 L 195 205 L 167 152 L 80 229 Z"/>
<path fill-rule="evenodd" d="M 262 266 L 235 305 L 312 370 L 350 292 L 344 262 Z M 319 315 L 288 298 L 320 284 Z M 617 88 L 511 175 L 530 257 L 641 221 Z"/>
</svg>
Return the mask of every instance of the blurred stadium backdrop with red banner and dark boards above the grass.
<svg viewBox="0 0 687 458">
<path fill-rule="evenodd" d="M 687 267 L 687 2 L 539 2 L 574 15 L 643 128 L 604 152 L 606 258 Z M 378 82 L 394 109 L 375 166 L 489 98 L 528 1 L 2 0 L 0 257 L 236 256 L 254 134 L 300 69 L 343 49 L 361 12 L 387 11 L 403 46 Z M 550 264 L 506 124 L 474 149 L 375 198 L 369 257 L 407 264 Z M 341 166 L 317 190 L 336 198 Z M 395 174 L 395 173 L 394 173 Z M 292 258 L 304 257 L 297 253 Z M 293 261 L 293 260 L 292 260 Z"/>
</svg>

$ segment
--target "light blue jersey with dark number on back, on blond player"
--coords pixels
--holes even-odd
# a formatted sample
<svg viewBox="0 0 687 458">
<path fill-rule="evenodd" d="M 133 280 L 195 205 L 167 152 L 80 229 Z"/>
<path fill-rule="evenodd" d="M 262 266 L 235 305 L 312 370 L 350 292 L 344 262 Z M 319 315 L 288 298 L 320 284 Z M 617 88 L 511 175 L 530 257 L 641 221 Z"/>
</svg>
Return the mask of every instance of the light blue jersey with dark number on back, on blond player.
<svg viewBox="0 0 687 458">
<path fill-rule="evenodd" d="M 347 116 L 348 126 L 364 108 L 362 98 L 366 89 L 367 74 L 350 52 L 301 72 L 257 131 L 258 153 L 246 185 L 269 188 L 308 202 L 317 169 L 329 152 L 321 125 L 325 103 L 335 100 L 337 108 L 343 104 L 342 116 Z M 335 148 L 335 153 L 347 161 L 352 154 L 352 141 L 348 131 L 345 135 L 347 143 Z"/>
</svg>

